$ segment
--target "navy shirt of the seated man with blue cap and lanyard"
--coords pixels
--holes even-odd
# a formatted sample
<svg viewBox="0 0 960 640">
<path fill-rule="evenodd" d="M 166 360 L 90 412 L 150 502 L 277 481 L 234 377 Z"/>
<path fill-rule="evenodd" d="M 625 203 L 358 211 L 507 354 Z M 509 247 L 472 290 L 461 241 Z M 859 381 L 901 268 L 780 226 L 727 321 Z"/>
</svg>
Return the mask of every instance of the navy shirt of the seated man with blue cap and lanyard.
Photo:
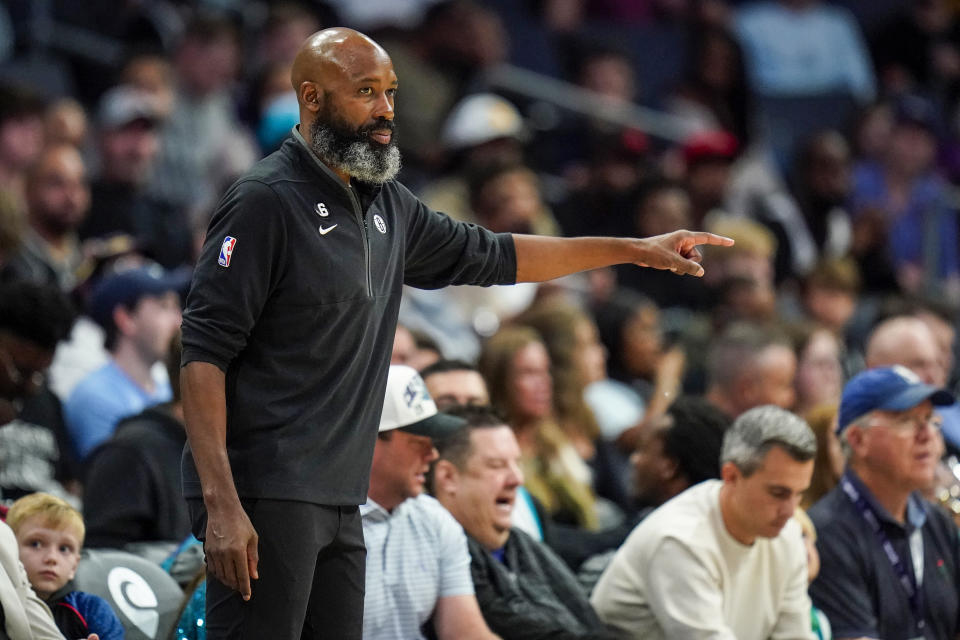
<svg viewBox="0 0 960 640">
<path fill-rule="evenodd" d="M 960 630 L 960 535 L 949 516 L 910 496 L 904 524 L 880 505 L 855 473 L 846 477 L 877 515 L 908 573 L 916 574 L 910 537 L 923 540 L 922 591 L 924 629 L 918 629 L 908 594 L 863 515 L 835 487 L 810 509 L 817 528 L 820 575 L 810 585 L 813 604 L 830 619 L 837 638 L 908 640 L 953 638 Z"/>
</svg>

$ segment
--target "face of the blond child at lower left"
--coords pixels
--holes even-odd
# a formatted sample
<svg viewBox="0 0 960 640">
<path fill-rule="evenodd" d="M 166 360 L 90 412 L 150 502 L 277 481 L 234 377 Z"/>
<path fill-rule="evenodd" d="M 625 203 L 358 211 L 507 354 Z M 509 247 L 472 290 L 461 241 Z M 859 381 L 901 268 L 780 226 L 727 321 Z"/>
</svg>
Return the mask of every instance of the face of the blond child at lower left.
<svg viewBox="0 0 960 640">
<path fill-rule="evenodd" d="M 48 522 L 34 516 L 20 526 L 17 543 L 20 562 L 41 598 L 49 598 L 76 574 L 80 540 L 73 531 L 52 529 Z"/>
</svg>

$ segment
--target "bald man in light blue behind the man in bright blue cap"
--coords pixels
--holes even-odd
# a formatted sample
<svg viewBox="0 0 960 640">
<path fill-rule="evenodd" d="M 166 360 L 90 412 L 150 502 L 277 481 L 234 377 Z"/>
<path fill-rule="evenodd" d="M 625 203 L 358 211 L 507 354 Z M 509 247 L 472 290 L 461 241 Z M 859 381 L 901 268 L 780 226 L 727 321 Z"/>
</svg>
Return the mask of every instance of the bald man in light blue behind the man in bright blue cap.
<svg viewBox="0 0 960 640">
<path fill-rule="evenodd" d="M 950 377 L 949 354 L 937 342 L 930 324 L 919 316 L 894 316 L 884 320 L 867 338 L 864 355 L 868 369 L 903 365 L 925 384 L 945 387 Z M 940 429 L 951 451 L 960 452 L 960 404 L 937 407 Z"/>
</svg>

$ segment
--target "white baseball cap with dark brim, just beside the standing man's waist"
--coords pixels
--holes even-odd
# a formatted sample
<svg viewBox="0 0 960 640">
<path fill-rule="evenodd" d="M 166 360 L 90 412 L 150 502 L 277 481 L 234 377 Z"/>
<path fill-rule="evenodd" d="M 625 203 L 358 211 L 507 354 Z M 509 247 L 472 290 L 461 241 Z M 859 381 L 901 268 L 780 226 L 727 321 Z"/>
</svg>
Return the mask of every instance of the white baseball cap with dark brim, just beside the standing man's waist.
<svg viewBox="0 0 960 640">
<path fill-rule="evenodd" d="M 380 415 L 380 432 L 402 429 L 407 433 L 442 439 L 466 425 L 466 420 L 437 411 L 427 385 L 413 367 L 390 365 L 387 395 Z"/>
</svg>

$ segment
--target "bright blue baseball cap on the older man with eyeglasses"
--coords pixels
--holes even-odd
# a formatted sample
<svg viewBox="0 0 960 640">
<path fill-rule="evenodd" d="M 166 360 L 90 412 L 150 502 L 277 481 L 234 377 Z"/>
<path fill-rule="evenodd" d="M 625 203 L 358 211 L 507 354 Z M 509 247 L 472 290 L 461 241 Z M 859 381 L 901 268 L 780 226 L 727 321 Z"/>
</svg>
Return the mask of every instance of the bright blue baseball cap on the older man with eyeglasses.
<svg viewBox="0 0 960 640">
<path fill-rule="evenodd" d="M 871 411 L 905 411 L 924 400 L 940 407 L 955 401 L 946 389 L 924 384 L 917 374 L 900 365 L 862 371 L 843 388 L 837 435 Z"/>
</svg>

